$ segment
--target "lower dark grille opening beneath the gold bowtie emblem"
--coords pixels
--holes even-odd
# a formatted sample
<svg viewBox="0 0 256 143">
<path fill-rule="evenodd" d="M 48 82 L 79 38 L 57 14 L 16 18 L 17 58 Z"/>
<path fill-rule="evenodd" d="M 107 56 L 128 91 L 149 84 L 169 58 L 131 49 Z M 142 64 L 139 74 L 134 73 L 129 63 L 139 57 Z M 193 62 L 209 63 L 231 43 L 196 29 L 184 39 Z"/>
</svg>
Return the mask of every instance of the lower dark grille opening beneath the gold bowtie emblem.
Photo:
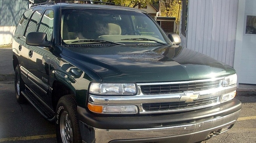
<svg viewBox="0 0 256 143">
<path fill-rule="evenodd" d="M 142 108 L 145 111 L 154 111 L 154 110 L 167 110 L 167 109 L 180 109 L 186 107 L 196 107 L 196 106 L 204 106 L 210 105 L 212 103 L 217 103 L 218 97 L 210 97 L 203 99 L 196 99 L 193 102 L 166 102 L 166 103 L 143 103 Z"/>
</svg>

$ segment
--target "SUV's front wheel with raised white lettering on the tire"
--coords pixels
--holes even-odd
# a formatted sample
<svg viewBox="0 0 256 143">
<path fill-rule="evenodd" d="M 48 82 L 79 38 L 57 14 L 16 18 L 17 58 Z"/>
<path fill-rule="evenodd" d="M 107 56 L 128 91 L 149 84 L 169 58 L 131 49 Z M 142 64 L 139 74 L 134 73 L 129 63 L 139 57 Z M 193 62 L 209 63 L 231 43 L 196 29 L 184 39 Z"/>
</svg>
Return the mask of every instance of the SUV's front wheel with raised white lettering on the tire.
<svg viewBox="0 0 256 143">
<path fill-rule="evenodd" d="M 74 95 L 59 99 L 56 107 L 56 137 L 58 143 L 81 143 L 77 119 L 77 105 Z"/>
</svg>

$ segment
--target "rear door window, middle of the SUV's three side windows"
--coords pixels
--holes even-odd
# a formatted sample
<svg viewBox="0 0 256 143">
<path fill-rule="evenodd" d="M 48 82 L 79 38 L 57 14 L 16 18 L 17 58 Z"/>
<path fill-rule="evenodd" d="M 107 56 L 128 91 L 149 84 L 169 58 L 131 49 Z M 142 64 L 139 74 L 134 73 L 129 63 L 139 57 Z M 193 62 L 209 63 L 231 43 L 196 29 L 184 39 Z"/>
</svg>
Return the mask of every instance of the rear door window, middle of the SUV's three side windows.
<svg viewBox="0 0 256 143">
<path fill-rule="evenodd" d="M 37 10 L 33 13 L 29 24 L 27 26 L 26 32 L 24 33 L 24 36 L 26 37 L 30 32 L 35 32 L 37 24 L 39 22 L 40 16 L 41 16 L 42 10 Z"/>
</svg>

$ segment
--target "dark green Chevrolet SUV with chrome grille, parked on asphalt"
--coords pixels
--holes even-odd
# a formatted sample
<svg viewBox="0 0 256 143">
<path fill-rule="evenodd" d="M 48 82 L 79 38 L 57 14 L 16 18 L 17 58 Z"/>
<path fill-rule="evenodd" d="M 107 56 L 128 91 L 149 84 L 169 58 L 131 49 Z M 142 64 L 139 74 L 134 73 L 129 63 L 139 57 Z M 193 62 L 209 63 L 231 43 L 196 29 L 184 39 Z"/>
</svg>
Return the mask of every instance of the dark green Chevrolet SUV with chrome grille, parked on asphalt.
<svg viewBox="0 0 256 143">
<path fill-rule="evenodd" d="M 140 9 L 34 5 L 12 43 L 17 101 L 56 124 L 58 143 L 193 143 L 228 131 L 241 111 L 235 70 L 179 44 Z"/>
</svg>

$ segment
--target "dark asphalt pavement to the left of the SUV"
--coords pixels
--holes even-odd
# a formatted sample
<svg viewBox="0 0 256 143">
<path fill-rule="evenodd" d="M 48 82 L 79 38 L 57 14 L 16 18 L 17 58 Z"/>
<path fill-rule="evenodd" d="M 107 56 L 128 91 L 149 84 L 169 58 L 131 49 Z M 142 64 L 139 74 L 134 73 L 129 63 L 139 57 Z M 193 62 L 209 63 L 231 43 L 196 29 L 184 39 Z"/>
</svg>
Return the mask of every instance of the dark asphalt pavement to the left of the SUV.
<svg viewBox="0 0 256 143">
<path fill-rule="evenodd" d="M 0 55 L 0 142 L 56 143 L 54 124 L 16 101 L 11 47 L 0 47 Z"/>
</svg>

